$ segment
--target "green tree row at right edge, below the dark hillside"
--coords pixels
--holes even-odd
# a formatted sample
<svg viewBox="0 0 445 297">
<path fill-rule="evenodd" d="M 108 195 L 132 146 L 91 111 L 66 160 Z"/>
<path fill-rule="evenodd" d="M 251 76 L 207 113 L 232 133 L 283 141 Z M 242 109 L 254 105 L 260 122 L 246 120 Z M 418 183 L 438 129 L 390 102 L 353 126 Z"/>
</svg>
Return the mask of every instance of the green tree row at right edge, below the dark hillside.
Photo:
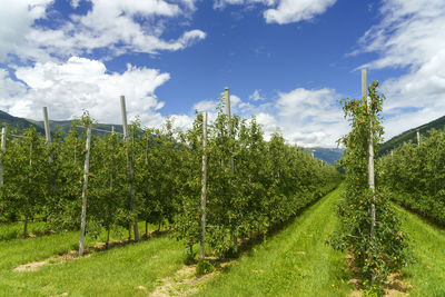
<svg viewBox="0 0 445 297">
<path fill-rule="evenodd" d="M 380 158 L 382 185 L 397 204 L 445 225 L 445 131 L 432 130 Z"/>
</svg>

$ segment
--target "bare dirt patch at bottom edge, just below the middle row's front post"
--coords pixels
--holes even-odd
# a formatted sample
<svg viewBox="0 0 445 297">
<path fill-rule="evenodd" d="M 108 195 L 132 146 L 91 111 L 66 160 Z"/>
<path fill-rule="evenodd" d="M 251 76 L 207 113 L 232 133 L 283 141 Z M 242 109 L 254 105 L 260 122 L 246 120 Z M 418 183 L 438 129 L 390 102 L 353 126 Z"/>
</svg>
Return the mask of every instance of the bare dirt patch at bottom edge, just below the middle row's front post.
<svg viewBox="0 0 445 297">
<path fill-rule="evenodd" d="M 219 267 L 207 275 L 197 276 L 196 265 L 186 265 L 175 276 L 166 277 L 158 280 L 158 286 L 152 293 L 149 294 L 151 297 L 167 297 L 167 296 L 188 296 L 198 291 L 198 288 L 206 281 L 211 279 L 214 276 L 220 274 L 229 266 L 233 266 L 237 260 L 230 260 L 220 263 Z M 260 271 L 256 271 L 260 273 Z"/>
</svg>

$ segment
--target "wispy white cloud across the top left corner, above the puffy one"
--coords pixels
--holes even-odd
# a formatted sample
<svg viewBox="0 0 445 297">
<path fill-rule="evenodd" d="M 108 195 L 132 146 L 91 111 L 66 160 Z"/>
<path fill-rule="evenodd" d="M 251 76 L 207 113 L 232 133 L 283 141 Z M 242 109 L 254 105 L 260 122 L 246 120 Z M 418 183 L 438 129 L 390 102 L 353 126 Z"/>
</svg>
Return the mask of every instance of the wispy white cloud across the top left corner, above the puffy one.
<svg viewBox="0 0 445 297">
<path fill-rule="evenodd" d="M 0 61 L 8 55 L 22 60 L 50 61 L 105 50 L 118 56 L 129 51 L 158 53 L 177 51 L 204 39 L 201 30 L 187 30 L 176 39 L 162 34 L 167 21 L 188 17 L 196 0 L 107 1 L 90 0 L 86 14 L 58 20 L 56 28 L 37 26 L 52 12 L 52 0 L 3 0 L 10 9 L 0 11 Z M 71 1 L 77 7 L 79 1 Z"/>
</svg>

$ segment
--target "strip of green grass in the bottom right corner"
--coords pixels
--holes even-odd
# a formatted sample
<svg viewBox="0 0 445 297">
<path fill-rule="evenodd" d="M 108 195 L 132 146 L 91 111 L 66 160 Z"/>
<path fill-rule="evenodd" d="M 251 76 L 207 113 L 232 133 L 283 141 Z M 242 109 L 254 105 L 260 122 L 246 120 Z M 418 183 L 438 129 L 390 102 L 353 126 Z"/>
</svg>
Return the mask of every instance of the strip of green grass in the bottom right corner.
<svg viewBox="0 0 445 297">
<path fill-rule="evenodd" d="M 412 242 L 415 263 L 403 269 L 411 296 L 445 296 L 445 230 L 397 207 Z"/>
</svg>

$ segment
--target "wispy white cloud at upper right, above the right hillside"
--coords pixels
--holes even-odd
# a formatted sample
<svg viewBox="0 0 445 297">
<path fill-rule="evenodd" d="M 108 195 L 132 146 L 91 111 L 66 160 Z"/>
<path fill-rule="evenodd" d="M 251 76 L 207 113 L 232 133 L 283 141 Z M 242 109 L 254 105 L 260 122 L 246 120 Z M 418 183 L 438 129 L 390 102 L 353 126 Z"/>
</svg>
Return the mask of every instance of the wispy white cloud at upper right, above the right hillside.
<svg viewBox="0 0 445 297">
<path fill-rule="evenodd" d="M 404 68 L 383 82 L 387 136 L 431 121 L 445 110 L 445 4 L 443 0 L 388 0 L 382 21 L 359 40 L 354 53 L 377 52 L 366 67 Z"/>
</svg>

